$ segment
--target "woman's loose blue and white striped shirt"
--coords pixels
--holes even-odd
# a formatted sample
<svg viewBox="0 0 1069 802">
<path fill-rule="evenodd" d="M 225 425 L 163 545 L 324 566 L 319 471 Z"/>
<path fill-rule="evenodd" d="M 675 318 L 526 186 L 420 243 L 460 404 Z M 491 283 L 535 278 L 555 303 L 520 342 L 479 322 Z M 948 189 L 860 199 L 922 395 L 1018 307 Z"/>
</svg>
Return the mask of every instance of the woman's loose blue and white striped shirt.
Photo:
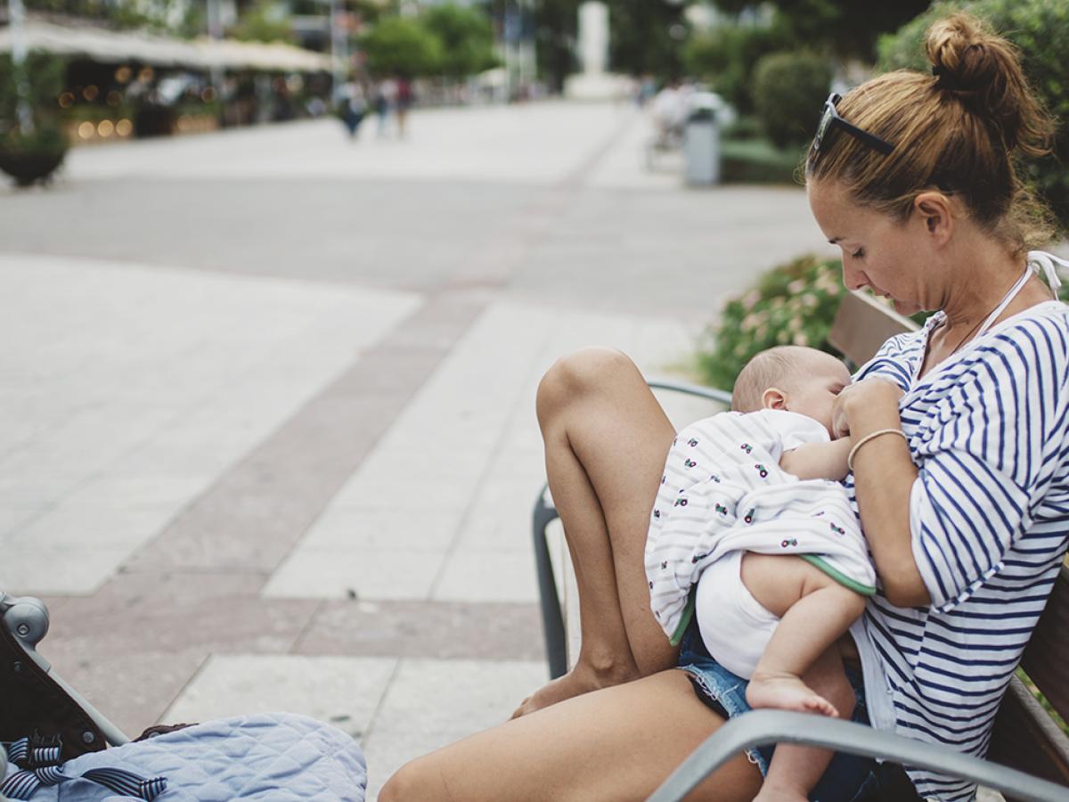
<svg viewBox="0 0 1069 802">
<path fill-rule="evenodd" d="M 873 726 L 983 755 L 1069 542 L 1069 307 L 1013 315 L 918 379 L 942 317 L 888 340 L 855 376 L 905 394 L 913 556 L 931 606 L 896 607 L 878 590 L 851 632 Z M 852 476 L 847 487 L 856 509 Z M 910 776 L 925 797 L 975 793 Z"/>
</svg>

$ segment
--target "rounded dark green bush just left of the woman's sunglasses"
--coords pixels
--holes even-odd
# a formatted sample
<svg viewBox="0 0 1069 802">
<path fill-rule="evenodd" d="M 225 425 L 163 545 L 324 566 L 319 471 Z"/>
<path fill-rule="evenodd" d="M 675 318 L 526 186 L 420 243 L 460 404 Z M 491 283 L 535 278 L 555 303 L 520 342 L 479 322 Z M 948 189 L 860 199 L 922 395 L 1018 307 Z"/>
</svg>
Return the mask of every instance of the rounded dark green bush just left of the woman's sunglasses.
<svg viewBox="0 0 1069 802">
<path fill-rule="evenodd" d="M 832 83 L 831 62 L 809 52 L 765 56 L 754 68 L 754 108 L 779 148 L 808 142 Z"/>
</svg>

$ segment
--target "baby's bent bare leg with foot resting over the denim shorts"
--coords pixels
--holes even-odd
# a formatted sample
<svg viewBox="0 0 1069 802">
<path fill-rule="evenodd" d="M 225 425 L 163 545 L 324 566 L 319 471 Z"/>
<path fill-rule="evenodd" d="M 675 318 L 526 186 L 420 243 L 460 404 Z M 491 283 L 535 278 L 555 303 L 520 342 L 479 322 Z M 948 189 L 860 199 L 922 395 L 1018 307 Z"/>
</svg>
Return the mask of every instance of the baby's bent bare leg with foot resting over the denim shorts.
<svg viewBox="0 0 1069 802">
<path fill-rule="evenodd" d="M 788 555 L 747 552 L 742 558 L 742 581 L 758 602 L 780 618 L 754 669 L 746 700 L 754 708 L 838 715 L 835 705 L 803 682 L 802 676 L 861 616 L 865 598 L 802 558 Z"/>
</svg>

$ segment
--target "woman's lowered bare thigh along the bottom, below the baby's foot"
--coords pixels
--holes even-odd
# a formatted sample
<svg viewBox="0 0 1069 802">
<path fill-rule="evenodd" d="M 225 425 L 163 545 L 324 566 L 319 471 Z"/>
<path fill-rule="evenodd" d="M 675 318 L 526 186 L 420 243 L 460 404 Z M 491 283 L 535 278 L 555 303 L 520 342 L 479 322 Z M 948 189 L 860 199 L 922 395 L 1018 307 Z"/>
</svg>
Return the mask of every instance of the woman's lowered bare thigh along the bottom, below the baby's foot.
<svg viewBox="0 0 1069 802">
<path fill-rule="evenodd" d="M 378 800 L 642 800 L 721 724 L 683 672 L 661 672 L 413 760 L 386 783 Z M 740 755 L 687 799 L 749 802 L 760 786 L 757 767 Z"/>
</svg>

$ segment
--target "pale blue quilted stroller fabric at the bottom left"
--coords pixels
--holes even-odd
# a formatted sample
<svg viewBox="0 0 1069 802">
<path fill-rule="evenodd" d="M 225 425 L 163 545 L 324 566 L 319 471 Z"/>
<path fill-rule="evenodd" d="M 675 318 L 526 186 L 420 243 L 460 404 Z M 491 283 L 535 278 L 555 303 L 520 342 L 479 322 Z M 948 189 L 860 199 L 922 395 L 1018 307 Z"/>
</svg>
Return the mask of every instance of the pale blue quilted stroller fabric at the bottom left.
<svg viewBox="0 0 1069 802">
<path fill-rule="evenodd" d="M 258 713 L 198 724 L 146 741 L 93 752 L 61 767 L 62 780 L 33 802 L 130 800 L 93 782 L 94 770 L 164 777 L 156 802 L 270 800 L 362 802 L 368 767 L 345 732 L 306 715 Z M 18 768 L 9 764 L 9 775 Z"/>
</svg>

